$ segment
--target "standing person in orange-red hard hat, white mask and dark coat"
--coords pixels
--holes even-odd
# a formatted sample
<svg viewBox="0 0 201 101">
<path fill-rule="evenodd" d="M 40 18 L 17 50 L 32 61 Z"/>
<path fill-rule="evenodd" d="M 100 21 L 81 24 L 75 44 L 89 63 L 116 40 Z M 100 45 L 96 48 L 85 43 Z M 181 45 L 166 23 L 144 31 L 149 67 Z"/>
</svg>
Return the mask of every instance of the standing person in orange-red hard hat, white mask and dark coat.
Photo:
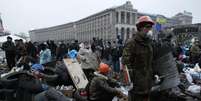
<svg viewBox="0 0 201 101">
<path fill-rule="evenodd" d="M 126 42 L 122 63 L 129 69 L 133 88 L 129 91 L 129 101 L 149 101 L 152 86 L 153 48 L 152 26 L 154 21 L 149 16 L 142 16 L 137 21 L 135 37 Z"/>
</svg>

